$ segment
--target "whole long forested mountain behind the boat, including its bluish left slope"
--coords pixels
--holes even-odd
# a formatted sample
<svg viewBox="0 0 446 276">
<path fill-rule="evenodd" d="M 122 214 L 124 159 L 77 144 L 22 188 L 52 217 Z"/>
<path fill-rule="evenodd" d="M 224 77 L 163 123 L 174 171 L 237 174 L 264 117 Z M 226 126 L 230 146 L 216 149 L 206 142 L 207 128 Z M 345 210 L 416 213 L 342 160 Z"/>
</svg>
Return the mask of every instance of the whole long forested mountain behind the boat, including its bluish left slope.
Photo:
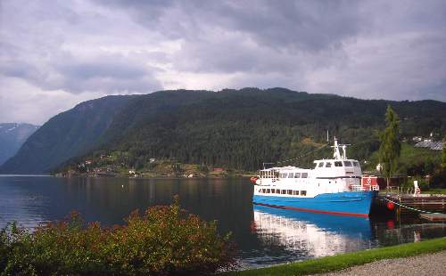
<svg viewBox="0 0 446 276">
<path fill-rule="evenodd" d="M 366 101 L 284 88 L 163 91 L 79 104 L 42 126 L 0 171 L 44 172 L 111 152 L 136 168 L 165 158 L 255 170 L 321 147 L 326 130 L 353 144 L 351 157 L 364 159 L 378 147 L 388 104 L 401 118 L 401 137 L 445 133 L 440 101 Z M 326 147 L 290 165 L 330 154 Z"/>
</svg>

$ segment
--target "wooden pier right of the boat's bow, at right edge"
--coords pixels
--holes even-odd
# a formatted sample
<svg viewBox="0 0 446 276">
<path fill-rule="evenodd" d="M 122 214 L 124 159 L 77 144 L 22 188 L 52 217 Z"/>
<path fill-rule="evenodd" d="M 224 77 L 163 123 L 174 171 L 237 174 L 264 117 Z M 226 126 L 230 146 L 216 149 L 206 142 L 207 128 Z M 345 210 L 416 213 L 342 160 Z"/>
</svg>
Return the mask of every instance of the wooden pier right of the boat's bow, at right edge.
<svg viewBox="0 0 446 276">
<path fill-rule="evenodd" d="M 379 198 L 385 204 L 390 202 L 389 200 L 395 202 L 394 209 L 399 215 L 446 213 L 446 195 L 419 194 L 414 196 L 412 194 L 388 193 L 380 194 Z"/>
</svg>

